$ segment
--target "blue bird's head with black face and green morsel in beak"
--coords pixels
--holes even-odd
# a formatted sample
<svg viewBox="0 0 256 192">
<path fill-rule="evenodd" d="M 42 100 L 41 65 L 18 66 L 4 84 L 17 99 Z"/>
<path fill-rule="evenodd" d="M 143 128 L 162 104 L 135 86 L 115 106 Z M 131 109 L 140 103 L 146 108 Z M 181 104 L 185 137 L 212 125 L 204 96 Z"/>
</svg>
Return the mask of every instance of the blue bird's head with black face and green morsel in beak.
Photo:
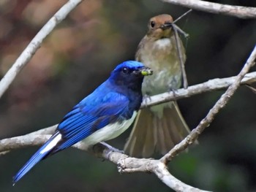
<svg viewBox="0 0 256 192">
<path fill-rule="evenodd" d="M 153 71 L 138 61 L 124 61 L 116 66 L 109 80 L 119 86 L 126 86 L 134 91 L 141 91 L 143 78 Z"/>
</svg>

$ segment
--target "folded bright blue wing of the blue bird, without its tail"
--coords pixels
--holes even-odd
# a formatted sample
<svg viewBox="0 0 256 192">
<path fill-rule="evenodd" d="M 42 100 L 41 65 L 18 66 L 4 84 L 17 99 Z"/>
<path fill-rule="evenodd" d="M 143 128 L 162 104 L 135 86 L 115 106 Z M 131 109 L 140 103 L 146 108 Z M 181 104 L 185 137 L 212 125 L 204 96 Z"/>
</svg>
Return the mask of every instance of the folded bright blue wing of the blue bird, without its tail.
<svg viewBox="0 0 256 192">
<path fill-rule="evenodd" d="M 96 105 L 82 102 L 64 117 L 58 127 L 62 139 L 50 154 L 80 142 L 110 123 L 132 117 L 133 111 L 129 111 L 129 100 L 126 96 L 108 93 L 103 99 L 108 101 Z"/>
</svg>

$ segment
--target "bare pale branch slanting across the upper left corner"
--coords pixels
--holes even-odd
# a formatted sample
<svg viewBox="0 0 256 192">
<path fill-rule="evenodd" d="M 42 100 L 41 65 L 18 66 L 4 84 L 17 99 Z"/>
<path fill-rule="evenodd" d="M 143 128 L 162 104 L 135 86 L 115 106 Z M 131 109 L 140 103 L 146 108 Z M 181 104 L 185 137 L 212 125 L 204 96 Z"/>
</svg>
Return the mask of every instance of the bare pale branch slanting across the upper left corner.
<svg viewBox="0 0 256 192">
<path fill-rule="evenodd" d="M 9 88 L 12 81 L 15 79 L 17 74 L 23 69 L 23 66 L 25 66 L 34 53 L 38 50 L 40 45 L 42 44 L 42 40 L 45 39 L 45 37 L 50 34 L 51 31 L 53 31 L 53 28 L 55 28 L 61 20 L 64 20 L 64 18 L 67 17 L 69 12 L 72 11 L 78 4 L 80 4 L 82 0 L 69 0 L 67 1 L 67 4 L 64 4 L 61 9 L 59 9 L 58 12 L 56 12 L 55 15 L 53 15 L 50 20 L 41 28 L 41 30 L 37 33 L 37 35 L 34 37 L 34 39 L 31 40 L 29 45 L 26 47 L 25 50 L 23 50 L 23 53 L 20 54 L 18 59 L 15 61 L 15 63 L 12 65 L 11 69 L 7 72 L 7 74 L 4 75 L 4 77 L 0 81 L 0 98 L 3 96 L 4 92 L 7 91 L 7 88 Z"/>
</svg>

